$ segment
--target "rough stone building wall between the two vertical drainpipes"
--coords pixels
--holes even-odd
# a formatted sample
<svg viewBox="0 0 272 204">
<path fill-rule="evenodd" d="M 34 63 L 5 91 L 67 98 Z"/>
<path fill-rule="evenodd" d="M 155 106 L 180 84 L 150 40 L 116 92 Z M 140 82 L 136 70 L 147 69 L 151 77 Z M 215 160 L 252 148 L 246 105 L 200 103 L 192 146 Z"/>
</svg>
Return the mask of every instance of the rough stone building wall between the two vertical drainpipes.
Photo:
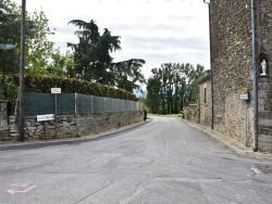
<svg viewBox="0 0 272 204">
<path fill-rule="evenodd" d="M 214 90 L 214 129 L 240 142 L 252 141 L 251 14 L 248 0 L 211 1 L 211 44 Z M 242 88 L 249 90 L 245 113 Z M 248 142 L 252 145 L 252 142 Z"/>
</svg>

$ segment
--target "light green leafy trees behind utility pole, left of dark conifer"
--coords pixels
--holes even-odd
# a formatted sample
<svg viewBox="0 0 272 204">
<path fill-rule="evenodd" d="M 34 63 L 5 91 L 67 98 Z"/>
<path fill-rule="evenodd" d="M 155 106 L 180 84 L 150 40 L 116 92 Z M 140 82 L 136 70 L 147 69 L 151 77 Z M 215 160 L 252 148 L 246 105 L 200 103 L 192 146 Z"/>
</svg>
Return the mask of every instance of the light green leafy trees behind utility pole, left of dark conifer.
<svg viewBox="0 0 272 204">
<path fill-rule="evenodd" d="M 0 4 L 0 43 L 11 43 L 15 49 L 0 50 L 0 74 L 18 73 L 21 41 L 21 8 L 11 0 Z M 48 36 L 53 33 L 48 27 L 44 11 L 26 14 L 26 72 L 35 75 L 47 74 L 48 60 L 53 51 L 53 42 Z"/>
</svg>

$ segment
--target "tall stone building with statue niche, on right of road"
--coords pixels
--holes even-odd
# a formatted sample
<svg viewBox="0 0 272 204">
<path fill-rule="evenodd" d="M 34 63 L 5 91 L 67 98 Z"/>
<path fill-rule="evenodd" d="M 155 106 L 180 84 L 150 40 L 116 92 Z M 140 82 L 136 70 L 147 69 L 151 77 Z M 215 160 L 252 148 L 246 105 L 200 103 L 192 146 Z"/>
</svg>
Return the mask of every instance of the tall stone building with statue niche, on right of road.
<svg viewBox="0 0 272 204">
<path fill-rule="evenodd" d="M 272 0 L 256 0 L 258 149 L 272 151 Z M 254 60 L 249 0 L 210 1 L 213 127 L 254 146 Z M 267 63 L 265 73 L 261 68 Z M 240 100 L 242 89 L 249 100 Z M 201 93 L 200 93 L 201 94 Z M 200 110 L 201 111 L 201 110 Z"/>
</svg>

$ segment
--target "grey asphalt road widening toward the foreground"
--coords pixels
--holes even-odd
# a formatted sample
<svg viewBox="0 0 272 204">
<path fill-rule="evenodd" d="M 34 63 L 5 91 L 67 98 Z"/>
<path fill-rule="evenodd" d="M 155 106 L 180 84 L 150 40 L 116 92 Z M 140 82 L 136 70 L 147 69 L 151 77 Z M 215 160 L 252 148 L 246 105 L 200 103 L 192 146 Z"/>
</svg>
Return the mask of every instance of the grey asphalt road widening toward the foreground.
<svg viewBox="0 0 272 204">
<path fill-rule="evenodd" d="M 94 140 L 0 151 L 0 203 L 271 204 L 272 163 L 178 118 Z"/>
</svg>

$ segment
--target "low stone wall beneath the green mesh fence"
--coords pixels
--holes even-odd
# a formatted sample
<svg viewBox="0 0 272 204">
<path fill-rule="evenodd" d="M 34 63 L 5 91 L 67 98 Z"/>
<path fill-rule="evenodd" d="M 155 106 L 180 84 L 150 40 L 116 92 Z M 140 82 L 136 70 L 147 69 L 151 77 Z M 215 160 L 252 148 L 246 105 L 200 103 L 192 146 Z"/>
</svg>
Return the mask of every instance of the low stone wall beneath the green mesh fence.
<svg viewBox="0 0 272 204">
<path fill-rule="evenodd" d="M 15 119 L 11 117 L 11 135 L 16 139 L 17 129 Z M 103 132 L 121 126 L 135 124 L 144 120 L 144 112 L 119 112 L 88 115 L 58 115 L 58 138 L 82 137 L 91 133 Z M 25 117 L 25 139 L 53 139 L 55 138 L 54 120 L 37 122 L 36 117 Z"/>
</svg>

